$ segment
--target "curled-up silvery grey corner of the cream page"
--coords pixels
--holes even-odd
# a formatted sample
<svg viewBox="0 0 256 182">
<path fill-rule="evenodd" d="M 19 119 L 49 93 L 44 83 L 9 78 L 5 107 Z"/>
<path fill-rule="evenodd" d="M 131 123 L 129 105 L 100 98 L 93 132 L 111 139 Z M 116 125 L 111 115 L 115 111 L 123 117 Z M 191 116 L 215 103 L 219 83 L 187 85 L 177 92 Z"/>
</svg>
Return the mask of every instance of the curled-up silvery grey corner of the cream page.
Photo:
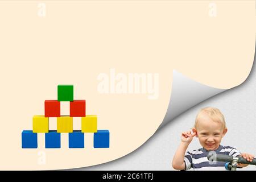
<svg viewBox="0 0 256 182">
<path fill-rule="evenodd" d="M 170 102 L 158 130 L 189 108 L 225 90 L 203 85 L 174 70 Z"/>
</svg>

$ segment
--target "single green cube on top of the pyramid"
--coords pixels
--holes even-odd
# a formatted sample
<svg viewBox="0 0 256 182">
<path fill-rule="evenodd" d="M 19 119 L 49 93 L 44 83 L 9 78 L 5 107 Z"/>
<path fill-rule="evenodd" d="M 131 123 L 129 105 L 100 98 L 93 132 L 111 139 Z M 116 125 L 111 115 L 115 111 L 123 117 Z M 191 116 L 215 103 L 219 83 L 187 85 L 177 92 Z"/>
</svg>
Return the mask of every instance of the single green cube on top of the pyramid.
<svg viewBox="0 0 256 182">
<path fill-rule="evenodd" d="M 74 86 L 73 85 L 58 85 L 58 101 L 73 101 Z"/>
</svg>

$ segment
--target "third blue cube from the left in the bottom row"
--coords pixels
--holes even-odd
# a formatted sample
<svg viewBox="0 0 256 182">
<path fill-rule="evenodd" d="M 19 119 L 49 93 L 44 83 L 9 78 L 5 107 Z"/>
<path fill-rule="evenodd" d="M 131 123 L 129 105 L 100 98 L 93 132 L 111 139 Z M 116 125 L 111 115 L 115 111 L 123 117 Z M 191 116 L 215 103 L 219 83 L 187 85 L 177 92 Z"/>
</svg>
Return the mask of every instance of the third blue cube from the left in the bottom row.
<svg viewBox="0 0 256 182">
<path fill-rule="evenodd" d="M 69 148 L 84 148 L 84 133 L 81 130 L 73 130 L 73 133 L 68 133 Z"/>
</svg>

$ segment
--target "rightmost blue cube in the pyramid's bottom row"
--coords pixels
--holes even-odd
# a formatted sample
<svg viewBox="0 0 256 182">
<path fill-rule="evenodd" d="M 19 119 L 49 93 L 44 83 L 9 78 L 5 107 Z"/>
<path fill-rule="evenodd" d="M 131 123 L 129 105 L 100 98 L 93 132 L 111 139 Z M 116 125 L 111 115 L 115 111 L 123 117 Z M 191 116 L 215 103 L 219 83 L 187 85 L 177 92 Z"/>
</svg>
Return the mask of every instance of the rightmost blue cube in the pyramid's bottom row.
<svg viewBox="0 0 256 182">
<path fill-rule="evenodd" d="M 97 130 L 93 138 L 94 148 L 109 148 L 109 130 Z"/>
</svg>

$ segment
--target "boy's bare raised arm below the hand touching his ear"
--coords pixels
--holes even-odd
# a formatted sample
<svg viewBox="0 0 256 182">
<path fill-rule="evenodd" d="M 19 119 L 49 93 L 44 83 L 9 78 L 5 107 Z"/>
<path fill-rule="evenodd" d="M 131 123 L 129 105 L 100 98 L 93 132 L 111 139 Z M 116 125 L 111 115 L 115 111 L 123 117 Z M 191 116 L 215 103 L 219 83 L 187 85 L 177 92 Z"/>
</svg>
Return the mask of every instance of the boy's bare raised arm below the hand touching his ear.
<svg viewBox="0 0 256 182">
<path fill-rule="evenodd" d="M 185 169 L 185 162 L 184 156 L 185 152 L 188 148 L 189 143 L 181 142 L 180 146 L 177 148 L 177 151 L 174 155 L 174 159 L 172 160 L 172 167 L 176 170 L 184 170 Z"/>
</svg>

